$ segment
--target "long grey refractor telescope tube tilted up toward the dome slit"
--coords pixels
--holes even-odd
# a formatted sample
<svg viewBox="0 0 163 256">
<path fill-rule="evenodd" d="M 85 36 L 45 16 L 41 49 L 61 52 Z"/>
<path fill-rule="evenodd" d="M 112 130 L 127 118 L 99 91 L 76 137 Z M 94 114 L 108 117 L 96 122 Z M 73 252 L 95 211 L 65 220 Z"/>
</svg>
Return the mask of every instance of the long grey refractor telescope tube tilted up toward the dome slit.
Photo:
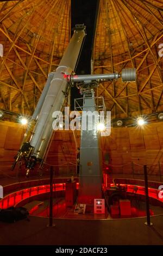
<svg viewBox="0 0 163 256">
<path fill-rule="evenodd" d="M 76 25 L 76 30 L 57 70 L 48 76 L 46 86 L 37 103 L 12 169 L 14 169 L 17 161 L 22 156 L 28 158 L 29 168 L 30 160 L 31 166 L 33 166 L 34 159 L 43 160 L 53 133 L 53 112 L 60 111 L 65 100 L 65 92 L 67 90 L 67 78 L 64 76 L 65 71 L 68 69 L 74 71 L 76 68 L 85 35 L 85 26 Z"/>
</svg>

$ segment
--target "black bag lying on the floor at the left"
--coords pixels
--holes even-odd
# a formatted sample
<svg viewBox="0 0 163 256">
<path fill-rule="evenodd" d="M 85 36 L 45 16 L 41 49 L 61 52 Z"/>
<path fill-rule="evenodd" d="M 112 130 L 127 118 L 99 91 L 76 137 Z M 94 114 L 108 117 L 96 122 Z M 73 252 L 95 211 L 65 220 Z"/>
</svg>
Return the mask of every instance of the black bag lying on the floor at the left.
<svg viewBox="0 0 163 256">
<path fill-rule="evenodd" d="M 0 221 L 3 222 L 16 222 L 19 220 L 28 220 L 29 212 L 24 207 L 10 207 L 7 209 L 0 209 Z"/>
</svg>

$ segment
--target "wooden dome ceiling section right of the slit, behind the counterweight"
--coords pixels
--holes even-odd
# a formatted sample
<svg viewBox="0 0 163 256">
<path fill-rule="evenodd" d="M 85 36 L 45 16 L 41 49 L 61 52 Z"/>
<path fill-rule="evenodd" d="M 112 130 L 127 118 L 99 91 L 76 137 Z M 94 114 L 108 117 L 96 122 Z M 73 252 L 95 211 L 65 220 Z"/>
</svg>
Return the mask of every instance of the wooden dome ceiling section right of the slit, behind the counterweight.
<svg viewBox="0 0 163 256">
<path fill-rule="evenodd" d="M 94 42 L 97 74 L 136 68 L 136 82 L 101 83 L 96 94 L 104 96 L 112 117 L 128 117 L 163 109 L 162 58 L 163 4 L 161 1 L 101 0 Z M 158 103 L 159 102 L 159 103 Z"/>
</svg>

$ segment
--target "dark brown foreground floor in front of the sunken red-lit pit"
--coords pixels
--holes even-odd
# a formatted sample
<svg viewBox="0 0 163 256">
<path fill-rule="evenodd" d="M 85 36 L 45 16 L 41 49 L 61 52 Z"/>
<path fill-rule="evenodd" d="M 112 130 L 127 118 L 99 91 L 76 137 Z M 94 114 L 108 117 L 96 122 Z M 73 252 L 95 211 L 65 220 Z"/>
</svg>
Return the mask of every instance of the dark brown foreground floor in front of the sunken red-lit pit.
<svg viewBox="0 0 163 256">
<path fill-rule="evenodd" d="M 163 215 L 128 220 L 59 220 L 47 227 L 48 218 L 30 217 L 0 223 L 1 245 L 163 245 Z"/>
</svg>

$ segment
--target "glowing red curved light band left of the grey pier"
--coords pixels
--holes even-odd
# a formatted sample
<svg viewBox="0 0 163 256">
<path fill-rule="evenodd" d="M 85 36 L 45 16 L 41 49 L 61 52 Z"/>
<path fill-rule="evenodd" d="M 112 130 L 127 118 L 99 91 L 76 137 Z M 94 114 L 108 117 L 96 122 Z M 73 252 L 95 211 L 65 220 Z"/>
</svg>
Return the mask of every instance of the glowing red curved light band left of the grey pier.
<svg viewBox="0 0 163 256">
<path fill-rule="evenodd" d="M 79 187 L 79 183 L 77 183 L 77 189 Z M 53 191 L 61 191 L 65 190 L 65 183 L 53 184 Z M 16 205 L 18 202 L 22 200 L 35 196 L 37 194 L 43 194 L 50 191 L 50 185 L 41 185 L 36 187 L 25 188 L 23 190 L 13 192 L 5 196 L 0 200 L 0 208 L 6 209 L 11 206 Z"/>
</svg>

